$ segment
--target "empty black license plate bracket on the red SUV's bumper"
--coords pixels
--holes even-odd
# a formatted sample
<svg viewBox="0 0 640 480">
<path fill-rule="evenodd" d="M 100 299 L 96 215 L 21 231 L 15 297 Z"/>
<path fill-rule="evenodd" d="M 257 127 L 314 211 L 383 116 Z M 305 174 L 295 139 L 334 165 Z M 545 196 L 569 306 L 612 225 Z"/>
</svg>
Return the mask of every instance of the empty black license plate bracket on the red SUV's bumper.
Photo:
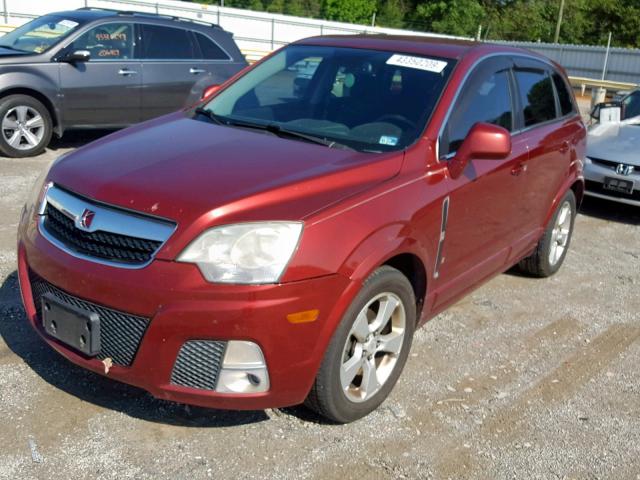
<svg viewBox="0 0 640 480">
<path fill-rule="evenodd" d="M 42 325 L 53 338 L 90 357 L 100 353 L 100 316 L 45 293 Z"/>
</svg>

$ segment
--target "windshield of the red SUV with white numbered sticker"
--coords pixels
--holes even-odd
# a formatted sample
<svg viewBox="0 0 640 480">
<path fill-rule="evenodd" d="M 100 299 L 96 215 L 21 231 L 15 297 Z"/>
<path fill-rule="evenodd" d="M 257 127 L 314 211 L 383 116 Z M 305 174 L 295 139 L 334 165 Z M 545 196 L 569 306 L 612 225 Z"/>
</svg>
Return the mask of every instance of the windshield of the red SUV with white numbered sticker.
<svg viewBox="0 0 640 480">
<path fill-rule="evenodd" d="M 378 50 L 292 45 L 239 78 L 205 109 L 223 124 L 303 133 L 327 146 L 400 150 L 424 130 L 453 63 Z"/>
</svg>

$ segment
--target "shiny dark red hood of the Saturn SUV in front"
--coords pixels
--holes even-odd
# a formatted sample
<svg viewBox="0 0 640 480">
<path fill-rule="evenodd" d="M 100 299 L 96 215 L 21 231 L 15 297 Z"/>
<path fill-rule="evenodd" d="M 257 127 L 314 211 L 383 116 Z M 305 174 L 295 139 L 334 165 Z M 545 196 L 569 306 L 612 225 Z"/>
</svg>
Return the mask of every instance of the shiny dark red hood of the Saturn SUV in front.
<svg viewBox="0 0 640 480">
<path fill-rule="evenodd" d="M 76 150 L 49 178 L 180 228 L 196 221 L 301 220 L 394 176 L 402 158 L 402 152 L 327 148 L 179 112 Z"/>
</svg>

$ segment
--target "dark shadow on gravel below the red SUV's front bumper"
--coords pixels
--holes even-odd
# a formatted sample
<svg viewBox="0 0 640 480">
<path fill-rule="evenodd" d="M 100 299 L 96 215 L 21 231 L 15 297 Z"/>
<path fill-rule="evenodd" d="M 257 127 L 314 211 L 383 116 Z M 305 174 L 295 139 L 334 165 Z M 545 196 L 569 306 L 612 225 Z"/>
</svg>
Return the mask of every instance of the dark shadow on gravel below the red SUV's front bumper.
<svg viewBox="0 0 640 480">
<path fill-rule="evenodd" d="M 50 348 L 25 319 L 17 272 L 0 287 L 0 337 L 44 381 L 70 395 L 134 418 L 182 427 L 230 427 L 263 422 L 265 411 L 215 410 L 152 397 L 142 389 L 109 380 L 67 361 Z M 296 409 L 277 412 L 305 415 Z M 296 414 L 296 412 L 298 412 Z M 313 421 L 313 420 L 311 420 Z"/>
</svg>

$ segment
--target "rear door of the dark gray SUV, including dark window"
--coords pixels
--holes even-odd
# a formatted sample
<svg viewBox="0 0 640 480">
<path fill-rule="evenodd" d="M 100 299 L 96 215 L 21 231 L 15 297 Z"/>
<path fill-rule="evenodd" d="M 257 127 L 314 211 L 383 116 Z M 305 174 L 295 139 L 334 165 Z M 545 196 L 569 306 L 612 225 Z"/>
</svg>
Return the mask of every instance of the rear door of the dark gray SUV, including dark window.
<svg viewBox="0 0 640 480">
<path fill-rule="evenodd" d="M 139 24 L 142 74 L 142 119 L 183 108 L 193 84 L 206 70 L 192 33 L 184 28 Z"/>
</svg>

